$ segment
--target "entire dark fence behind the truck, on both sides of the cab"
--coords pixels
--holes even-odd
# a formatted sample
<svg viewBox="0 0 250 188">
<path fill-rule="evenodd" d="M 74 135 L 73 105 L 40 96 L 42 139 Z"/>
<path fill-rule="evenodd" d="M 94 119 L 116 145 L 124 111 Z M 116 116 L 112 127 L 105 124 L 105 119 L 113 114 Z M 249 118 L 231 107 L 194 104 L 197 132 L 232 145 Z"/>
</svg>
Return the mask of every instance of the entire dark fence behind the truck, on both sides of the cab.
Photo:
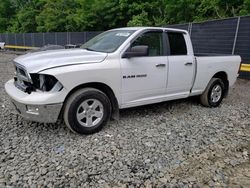
<svg viewBox="0 0 250 188">
<path fill-rule="evenodd" d="M 168 25 L 187 30 L 195 53 L 237 54 L 244 64 L 250 64 L 250 16 L 200 23 Z M 42 47 L 47 44 L 83 44 L 101 32 L 7 33 L 0 34 L 6 45 Z M 241 72 L 250 79 L 250 72 Z"/>
</svg>

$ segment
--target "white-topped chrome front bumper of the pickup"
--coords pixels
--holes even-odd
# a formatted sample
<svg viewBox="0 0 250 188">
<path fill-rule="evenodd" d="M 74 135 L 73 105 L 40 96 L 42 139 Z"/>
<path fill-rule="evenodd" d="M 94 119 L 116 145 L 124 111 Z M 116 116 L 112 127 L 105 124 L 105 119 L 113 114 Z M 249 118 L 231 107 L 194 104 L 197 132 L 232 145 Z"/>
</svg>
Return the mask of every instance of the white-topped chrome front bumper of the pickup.
<svg viewBox="0 0 250 188">
<path fill-rule="evenodd" d="M 30 121 L 55 123 L 63 106 L 66 91 L 32 92 L 28 94 L 18 89 L 14 80 L 5 84 L 5 91 L 11 97 L 17 113 Z"/>
</svg>

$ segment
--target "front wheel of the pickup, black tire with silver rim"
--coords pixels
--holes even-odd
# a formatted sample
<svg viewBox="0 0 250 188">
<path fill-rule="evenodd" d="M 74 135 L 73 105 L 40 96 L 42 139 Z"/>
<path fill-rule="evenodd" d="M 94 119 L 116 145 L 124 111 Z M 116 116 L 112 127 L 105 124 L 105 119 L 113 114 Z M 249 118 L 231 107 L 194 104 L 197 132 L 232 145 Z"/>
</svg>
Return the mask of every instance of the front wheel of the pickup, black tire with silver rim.
<svg viewBox="0 0 250 188">
<path fill-rule="evenodd" d="M 96 109 L 92 109 L 93 113 L 98 112 L 102 114 L 102 117 L 92 117 L 91 102 L 98 103 L 99 106 Z M 90 104 L 89 104 L 90 103 Z M 89 105 L 89 108 L 83 106 Z M 94 105 L 93 105 L 94 106 Z M 88 110 L 86 110 L 88 109 Z M 82 112 L 80 112 L 82 111 Z M 83 114 L 84 113 L 84 114 Z M 89 113 L 89 114 L 88 114 Z M 82 120 L 79 120 L 79 116 L 84 115 Z M 86 115 L 87 114 L 87 115 Z M 85 117 L 86 116 L 86 117 Z M 79 134 L 92 134 L 102 129 L 107 124 L 111 116 L 111 103 L 105 93 L 94 88 L 84 88 L 73 93 L 65 103 L 64 108 L 64 121 L 67 127 Z M 96 119 L 95 119 L 96 118 Z M 93 122 L 92 126 L 88 126 L 88 120 Z M 93 120 L 94 119 L 94 120 Z M 98 120 L 98 121 L 97 121 Z M 98 122 L 94 125 L 94 122 Z"/>
</svg>

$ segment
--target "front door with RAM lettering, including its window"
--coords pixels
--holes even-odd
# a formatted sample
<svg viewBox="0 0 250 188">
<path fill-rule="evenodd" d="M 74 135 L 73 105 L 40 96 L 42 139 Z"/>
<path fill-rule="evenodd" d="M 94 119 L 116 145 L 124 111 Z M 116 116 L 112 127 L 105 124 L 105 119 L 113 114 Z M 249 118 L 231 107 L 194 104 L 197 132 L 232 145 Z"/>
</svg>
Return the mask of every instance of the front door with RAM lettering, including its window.
<svg viewBox="0 0 250 188">
<path fill-rule="evenodd" d="M 149 54 L 121 59 L 124 106 L 140 105 L 165 94 L 168 58 L 164 53 L 163 42 L 161 30 L 147 31 L 132 42 L 130 47 L 147 45 Z"/>
</svg>

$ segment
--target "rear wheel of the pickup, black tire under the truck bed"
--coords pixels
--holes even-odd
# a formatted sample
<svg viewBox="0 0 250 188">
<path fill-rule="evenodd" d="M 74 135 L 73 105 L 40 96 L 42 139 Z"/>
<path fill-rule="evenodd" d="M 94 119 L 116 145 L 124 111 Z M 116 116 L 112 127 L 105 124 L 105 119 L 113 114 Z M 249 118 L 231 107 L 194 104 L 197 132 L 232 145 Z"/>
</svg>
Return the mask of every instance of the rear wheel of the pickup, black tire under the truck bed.
<svg viewBox="0 0 250 188">
<path fill-rule="evenodd" d="M 218 94 L 218 97 L 216 97 L 217 95 L 215 94 L 215 97 L 213 97 L 214 95 L 212 91 L 217 86 L 218 88 L 221 88 L 221 94 L 220 95 Z M 209 81 L 205 91 L 200 96 L 200 102 L 203 106 L 206 107 L 218 107 L 221 104 L 224 95 L 225 95 L 225 84 L 223 83 L 223 81 L 220 78 L 212 78 Z"/>
</svg>

